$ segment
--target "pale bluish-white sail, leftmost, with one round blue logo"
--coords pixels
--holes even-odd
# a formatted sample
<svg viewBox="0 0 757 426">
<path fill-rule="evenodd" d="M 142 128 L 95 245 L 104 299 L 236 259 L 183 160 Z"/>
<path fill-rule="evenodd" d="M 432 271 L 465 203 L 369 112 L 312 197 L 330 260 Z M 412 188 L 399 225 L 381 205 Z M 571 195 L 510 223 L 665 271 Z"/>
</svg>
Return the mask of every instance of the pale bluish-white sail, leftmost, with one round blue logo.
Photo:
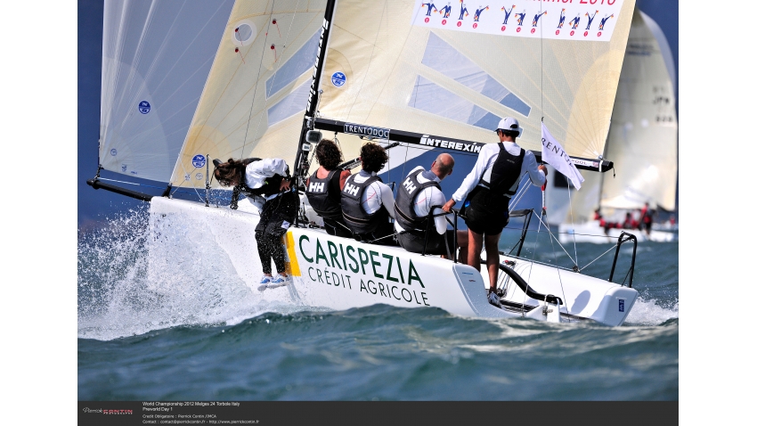
<svg viewBox="0 0 757 426">
<path fill-rule="evenodd" d="M 232 3 L 105 2 L 102 168 L 168 181 Z"/>
</svg>

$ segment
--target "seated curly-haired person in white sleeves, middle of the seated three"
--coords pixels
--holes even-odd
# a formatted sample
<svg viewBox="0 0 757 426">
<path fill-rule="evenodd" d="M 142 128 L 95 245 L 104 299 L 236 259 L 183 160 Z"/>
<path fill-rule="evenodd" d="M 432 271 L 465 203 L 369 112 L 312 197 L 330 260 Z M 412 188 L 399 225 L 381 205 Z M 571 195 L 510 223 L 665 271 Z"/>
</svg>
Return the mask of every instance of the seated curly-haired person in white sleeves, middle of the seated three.
<svg viewBox="0 0 757 426">
<path fill-rule="evenodd" d="M 392 189 L 376 176 L 389 157 L 377 143 L 365 143 L 360 149 L 362 170 L 349 176 L 342 190 L 342 215 L 357 241 L 397 245 L 394 226 L 395 196 Z"/>
</svg>

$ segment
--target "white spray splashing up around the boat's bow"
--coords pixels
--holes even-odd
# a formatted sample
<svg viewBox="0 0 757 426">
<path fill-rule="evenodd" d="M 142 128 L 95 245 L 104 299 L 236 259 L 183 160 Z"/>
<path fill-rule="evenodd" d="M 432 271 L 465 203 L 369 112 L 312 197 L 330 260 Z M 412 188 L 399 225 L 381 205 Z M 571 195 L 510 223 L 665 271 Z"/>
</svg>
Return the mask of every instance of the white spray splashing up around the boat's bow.
<svg viewBox="0 0 757 426">
<path fill-rule="evenodd" d="M 102 231 L 80 236 L 79 338 L 232 325 L 265 312 L 305 308 L 266 301 L 250 289 L 212 233 L 175 217 L 150 234 L 148 217 L 146 210 L 131 211 L 110 219 Z"/>
</svg>

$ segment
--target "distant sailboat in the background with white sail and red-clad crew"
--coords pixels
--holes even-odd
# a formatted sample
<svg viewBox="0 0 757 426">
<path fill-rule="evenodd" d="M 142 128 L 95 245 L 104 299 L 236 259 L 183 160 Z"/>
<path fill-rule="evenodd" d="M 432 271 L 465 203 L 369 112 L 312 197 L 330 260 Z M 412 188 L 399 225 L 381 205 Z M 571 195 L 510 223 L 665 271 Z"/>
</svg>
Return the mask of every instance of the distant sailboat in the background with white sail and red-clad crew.
<svg viewBox="0 0 757 426">
<path fill-rule="evenodd" d="M 615 242 L 627 213 L 638 215 L 645 204 L 648 209 L 675 209 L 675 76 L 662 30 L 636 8 L 605 145 L 615 171 L 588 174 L 580 191 L 570 189 L 565 179 L 552 179 L 547 189 L 548 222 L 559 226 L 560 242 Z M 604 224 L 595 218 L 597 209 Z M 649 233 L 634 232 L 639 241 L 671 242 L 678 239 L 675 231 L 654 226 Z"/>
</svg>

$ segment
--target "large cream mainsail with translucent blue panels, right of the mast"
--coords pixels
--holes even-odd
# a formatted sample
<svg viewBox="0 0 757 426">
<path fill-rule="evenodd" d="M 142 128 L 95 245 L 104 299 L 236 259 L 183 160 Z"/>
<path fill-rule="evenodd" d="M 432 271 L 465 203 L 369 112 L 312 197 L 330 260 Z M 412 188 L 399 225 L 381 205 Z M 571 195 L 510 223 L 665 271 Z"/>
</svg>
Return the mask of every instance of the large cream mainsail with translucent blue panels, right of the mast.
<svg viewBox="0 0 757 426">
<path fill-rule="evenodd" d="M 450 4 L 445 19 L 444 12 L 426 16 L 428 6 L 420 0 L 339 1 L 321 81 L 322 117 L 492 143 L 499 119 L 513 116 L 525 129 L 518 143 L 534 151 L 541 151 L 544 117 L 569 155 L 597 159 L 634 1 L 571 5 L 567 20 L 597 17 L 591 23 L 584 17 L 575 38 L 565 20 L 560 25 L 566 5 L 512 3 L 525 13 L 520 27 L 527 37 L 516 32 L 514 15 L 511 29 L 501 31 L 507 11 L 499 6 L 471 6 L 459 20 L 462 3 Z M 597 37 L 600 18 L 606 33 L 614 29 L 610 36 Z"/>
</svg>

